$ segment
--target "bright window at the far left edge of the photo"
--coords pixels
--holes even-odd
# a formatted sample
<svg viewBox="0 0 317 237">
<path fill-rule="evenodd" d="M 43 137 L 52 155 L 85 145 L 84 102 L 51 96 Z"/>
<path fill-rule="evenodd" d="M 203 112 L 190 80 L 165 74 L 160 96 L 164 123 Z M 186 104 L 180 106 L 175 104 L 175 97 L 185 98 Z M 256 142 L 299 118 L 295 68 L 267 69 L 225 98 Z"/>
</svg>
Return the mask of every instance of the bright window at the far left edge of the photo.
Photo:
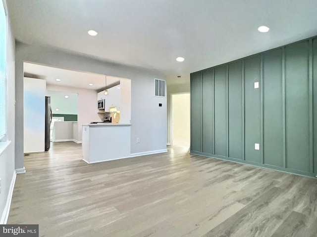
<svg viewBox="0 0 317 237">
<path fill-rule="evenodd" d="M 0 0 L 0 140 L 6 133 L 6 17 Z"/>
</svg>

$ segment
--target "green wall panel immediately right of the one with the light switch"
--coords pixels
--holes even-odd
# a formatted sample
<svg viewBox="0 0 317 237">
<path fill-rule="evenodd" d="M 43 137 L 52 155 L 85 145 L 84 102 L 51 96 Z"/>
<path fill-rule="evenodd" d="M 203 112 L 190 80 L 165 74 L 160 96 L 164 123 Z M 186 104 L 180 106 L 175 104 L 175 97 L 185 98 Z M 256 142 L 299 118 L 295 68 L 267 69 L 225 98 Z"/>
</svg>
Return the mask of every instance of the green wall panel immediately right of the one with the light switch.
<svg viewBox="0 0 317 237">
<path fill-rule="evenodd" d="M 283 167 L 282 49 L 263 54 L 264 163 Z"/>
</svg>

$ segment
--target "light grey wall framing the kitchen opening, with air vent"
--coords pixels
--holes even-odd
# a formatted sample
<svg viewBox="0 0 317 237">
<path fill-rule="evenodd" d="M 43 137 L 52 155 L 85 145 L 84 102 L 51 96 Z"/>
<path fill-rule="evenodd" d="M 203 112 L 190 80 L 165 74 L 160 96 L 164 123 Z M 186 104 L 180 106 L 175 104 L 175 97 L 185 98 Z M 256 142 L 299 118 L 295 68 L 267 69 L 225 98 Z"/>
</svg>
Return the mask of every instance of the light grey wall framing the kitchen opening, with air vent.
<svg viewBox="0 0 317 237">
<path fill-rule="evenodd" d="M 16 116 L 23 118 L 23 62 L 131 79 L 131 153 L 166 151 L 166 98 L 154 97 L 154 79 L 165 76 L 154 70 L 110 63 L 83 54 L 16 42 Z M 50 88 L 52 90 L 53 88 Z M 159 107 L 159 103 L 162 107 Z M 88 108 L 86 108 L 88 109 Z M 80 113 L 80 112 L 78 112 Z M 91 120 L 91 119 L 90 119 Z M 90 121 L 89 120 L 89 121 Z M 87 121 L 88 122 L 88 121 Z M 16 123 L 16 167 L 23 167 L 23 124 Z M 140 143 L 136 139 L 140 138 Z"/>
</svg>

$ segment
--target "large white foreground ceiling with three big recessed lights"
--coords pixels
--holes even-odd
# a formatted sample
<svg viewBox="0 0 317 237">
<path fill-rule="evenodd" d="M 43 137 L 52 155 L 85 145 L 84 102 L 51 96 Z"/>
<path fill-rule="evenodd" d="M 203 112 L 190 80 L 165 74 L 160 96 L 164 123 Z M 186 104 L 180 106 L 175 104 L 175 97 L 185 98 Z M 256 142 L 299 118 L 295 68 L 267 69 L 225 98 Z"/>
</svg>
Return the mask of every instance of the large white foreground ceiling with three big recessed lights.
<svg viewBox="0 0 317 237">
<path fill-rule="evenodd" d="M 16 40 L 153 68 L 167 83 L 317 35 L 317 0 L 7 0 Z M 266 25 L 268 33 L 258 27 Z M 98 32 L 89 36 L 88 30 Z M 185 58 L 183 63 L 176 57 Z M 177 79 L 181 75 L 181 79 Z"/>
</svg>

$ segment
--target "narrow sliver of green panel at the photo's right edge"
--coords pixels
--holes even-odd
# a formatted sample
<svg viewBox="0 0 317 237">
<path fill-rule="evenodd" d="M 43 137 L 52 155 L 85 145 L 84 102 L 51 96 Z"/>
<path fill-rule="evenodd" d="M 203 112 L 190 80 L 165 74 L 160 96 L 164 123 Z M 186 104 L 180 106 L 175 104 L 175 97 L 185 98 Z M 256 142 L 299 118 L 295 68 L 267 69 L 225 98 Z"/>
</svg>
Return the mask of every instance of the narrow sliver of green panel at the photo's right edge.
<svg viewBox="0 0 317 237">
<path fill-rule="evenodd" d="M 314 173 L 317 173 L 317 39 L 313 40 Z"/>
</svg>

